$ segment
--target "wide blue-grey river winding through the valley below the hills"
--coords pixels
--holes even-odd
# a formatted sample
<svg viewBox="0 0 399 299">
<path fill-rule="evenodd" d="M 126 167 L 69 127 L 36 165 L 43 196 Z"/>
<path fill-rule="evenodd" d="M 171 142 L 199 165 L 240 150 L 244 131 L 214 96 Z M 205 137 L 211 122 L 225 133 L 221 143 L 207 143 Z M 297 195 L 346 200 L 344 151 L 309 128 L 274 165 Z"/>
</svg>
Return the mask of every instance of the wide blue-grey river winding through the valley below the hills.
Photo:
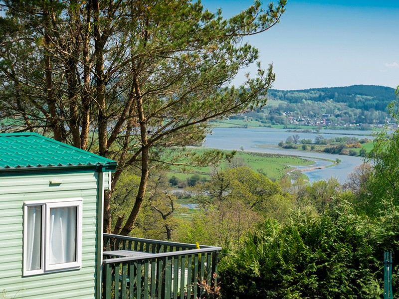
<svg viewBox="0 0 399 299">
<path fill-rule="evenodd" d="M 329 154 L 321 152 L 304 152 L 299 150 L 281 149 L 275 146 L 279 141 L 285 141 L 288 136 L 296 134 L 299 135 L 300 139 L 311 139 L 313 141 L 317 135 L 312 133 L 287 132 L 287 129 L 275 128 L 214 128 L 212 134 L 206 137 L 206 141 L 203 146 L 210 149 L 229 150 L 240 150 L 241 147 L 244 147 L 245 151 L 298 155 L 315 161 L 315 164 L 312 165 L 313 167 L 326 166 L 331 164 L 331 162 L 322 159 L 335 160 L 336 158 L 339 158 L 342 160 L 340 164 L 334 165 L 332 167 L 304 171 L 304 173 L 309 177 L 309 181 L 337 177 L 341 183 L 344 183 L 348 174 L 352 172 L 353 168 L 363 162 L 362 158 L 357 156 Z M 364 136 L 365 134 L 368 134 L 369 136 Z M 372 131 L 320 131 L 320 135 L 323 135 L 327 139 L 344 136 L 356 137 L 359 139 L 367 137 L 369 139 L 372 139 L 371 134 Z M 258 146 L 260 145 L 270 145 L 270 147 L 259 148 Z M 309 168 L 309 166 L 306 166 L 306 168 Z"/>
</svg>

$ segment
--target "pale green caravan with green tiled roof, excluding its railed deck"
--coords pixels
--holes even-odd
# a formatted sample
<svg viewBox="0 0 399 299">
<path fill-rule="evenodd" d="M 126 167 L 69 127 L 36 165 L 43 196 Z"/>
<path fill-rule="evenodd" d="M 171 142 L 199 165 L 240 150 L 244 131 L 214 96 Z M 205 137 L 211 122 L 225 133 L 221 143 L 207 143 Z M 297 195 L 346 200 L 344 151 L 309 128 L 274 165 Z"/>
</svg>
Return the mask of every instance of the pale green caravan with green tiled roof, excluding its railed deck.
<svg viewBox="0 0 399 299">
<path fill-rule="evenodd" d="M 35 133 L 0 134 L 0 292 L 95 298 L 103 194 L 115 168 L 113 160 Z"/>
</svg>

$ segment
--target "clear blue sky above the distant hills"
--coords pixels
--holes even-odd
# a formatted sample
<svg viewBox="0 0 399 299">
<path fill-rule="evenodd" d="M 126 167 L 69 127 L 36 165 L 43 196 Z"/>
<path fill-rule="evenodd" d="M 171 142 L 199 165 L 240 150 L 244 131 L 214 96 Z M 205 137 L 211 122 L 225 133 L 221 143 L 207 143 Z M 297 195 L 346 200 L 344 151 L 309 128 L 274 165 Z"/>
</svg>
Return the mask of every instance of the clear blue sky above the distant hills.
<svg viewBox="0 0 399 299">
<path fill-rule="evenodd" d="M 253 3 L 201 2 L 211 11 L 222 8 L 225 17 Z M 285 8 L 277 26 L 247 38 L 263 68 L 273 63 L 273 88 L 399 85 L 399 1 L 288 0 Z M 255 75 L 256 67 L 246 71 Z M 243 80 L 244 72 L 233 84 Z"/>
</svg>

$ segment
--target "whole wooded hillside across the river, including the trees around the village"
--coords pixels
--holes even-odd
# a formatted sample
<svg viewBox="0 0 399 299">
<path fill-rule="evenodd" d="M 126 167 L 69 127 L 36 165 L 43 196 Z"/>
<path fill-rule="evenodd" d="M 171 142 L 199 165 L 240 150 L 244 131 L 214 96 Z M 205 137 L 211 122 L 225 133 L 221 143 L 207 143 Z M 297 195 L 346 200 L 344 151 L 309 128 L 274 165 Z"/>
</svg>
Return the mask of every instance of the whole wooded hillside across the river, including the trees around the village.
<svg viewBox="0 0 399 299">
<path fill-rule="evenodd" d="M 267 97 L 276 102 L 271 101 L 245 116 L 272 125 L 289 125 L 293 121 L 298 125 L 330 126 L 394 122 L 387 110 L 395 97 L 395 89 L 390 87 L 354 85 L 288 91 L 270 89 Z M 244 115 L 235 118 L 244 118 Z"/>
</svg>

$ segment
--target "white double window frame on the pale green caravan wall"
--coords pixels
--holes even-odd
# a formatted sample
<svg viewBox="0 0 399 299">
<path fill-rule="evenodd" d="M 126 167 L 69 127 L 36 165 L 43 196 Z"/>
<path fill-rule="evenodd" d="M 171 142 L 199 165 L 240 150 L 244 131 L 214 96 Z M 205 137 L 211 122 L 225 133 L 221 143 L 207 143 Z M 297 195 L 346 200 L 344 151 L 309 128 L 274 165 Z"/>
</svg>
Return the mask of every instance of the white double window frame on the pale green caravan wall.
<svg viewBox="0 0 399 299">
<path fill-rule="evenodd" d="M 40 269 L 27 270 L 27 209 L 29 206 L 41 206 L 41 250 Z M 76 261 L 61 264 L 49 264 L 49 229 L 50 209 L 76 207 Z M 46 201 L 26 201 L 23 206 L 23 276 L 37 275 L 49 272 L 76 270 L 82 268 L 82 223 L 83 198 L 68 198 Z"/>
</svg>

